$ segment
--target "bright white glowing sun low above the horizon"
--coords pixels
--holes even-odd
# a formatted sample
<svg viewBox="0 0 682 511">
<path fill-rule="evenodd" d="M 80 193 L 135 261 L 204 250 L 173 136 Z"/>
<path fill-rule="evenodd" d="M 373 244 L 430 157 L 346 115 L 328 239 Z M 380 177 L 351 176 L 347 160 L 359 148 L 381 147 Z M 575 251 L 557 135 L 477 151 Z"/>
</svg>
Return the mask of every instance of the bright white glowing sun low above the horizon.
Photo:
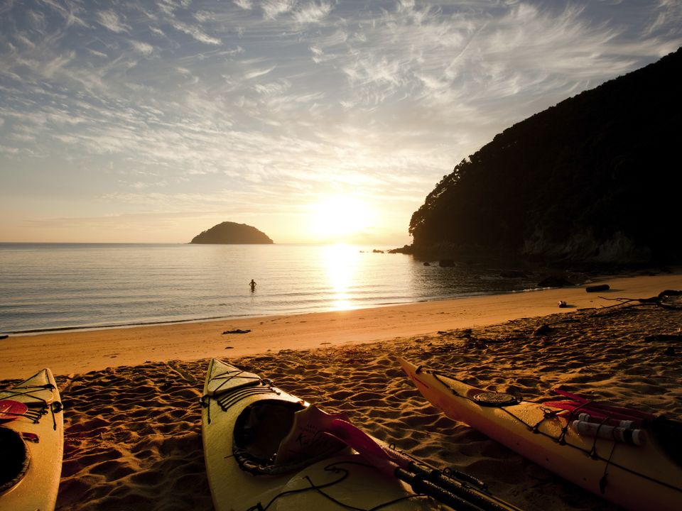
<svg viewBox="0 0 682 511">
<path fill-rule="evenodd" d="M 332 195 L 313 204 L 310 222 L 315 238 L 320 241 L 353 241 L 372 222 L 372 209 L 362 199 Z"/>
</svg>

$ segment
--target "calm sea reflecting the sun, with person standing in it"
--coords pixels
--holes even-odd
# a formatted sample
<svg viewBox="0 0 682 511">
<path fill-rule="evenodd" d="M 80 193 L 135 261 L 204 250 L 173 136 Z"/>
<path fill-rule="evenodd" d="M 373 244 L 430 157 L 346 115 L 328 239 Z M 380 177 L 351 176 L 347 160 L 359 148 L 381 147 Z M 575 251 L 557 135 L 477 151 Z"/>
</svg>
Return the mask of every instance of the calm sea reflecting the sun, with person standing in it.
<svg viewBox="0 0 682 511">
<path fill-rule="evenodd" d="M 0 333 L 320 312 L 534 287 L 388 247 L 0 243 Z M 256 281 L 251 292 L 249 282 Z"/>
</svg>

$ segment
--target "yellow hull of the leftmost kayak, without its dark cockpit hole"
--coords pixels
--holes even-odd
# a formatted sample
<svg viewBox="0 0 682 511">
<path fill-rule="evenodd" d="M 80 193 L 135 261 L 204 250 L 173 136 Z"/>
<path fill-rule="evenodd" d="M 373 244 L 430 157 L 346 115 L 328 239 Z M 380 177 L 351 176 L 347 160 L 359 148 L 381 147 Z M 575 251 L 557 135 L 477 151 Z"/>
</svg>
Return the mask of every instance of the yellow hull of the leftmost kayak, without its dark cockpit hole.
<svg viewBox="0 0 682 511">
<path fill-rule="evenodd" d="M 45 368 L 0 392 L 6 414 L 0 427 L 21 437 L 28 466 L 16 483 L 0 493 L 0 511 L 49 511 L 55 508 L 62 471 L 64 418 L 54 376 Z M 21 407 L 9 403 L 21 403 Z M 13 410 L 20 413 L 14 414 Z M 17 438 L 18 438 L 17 437 Z"/>
</svg>

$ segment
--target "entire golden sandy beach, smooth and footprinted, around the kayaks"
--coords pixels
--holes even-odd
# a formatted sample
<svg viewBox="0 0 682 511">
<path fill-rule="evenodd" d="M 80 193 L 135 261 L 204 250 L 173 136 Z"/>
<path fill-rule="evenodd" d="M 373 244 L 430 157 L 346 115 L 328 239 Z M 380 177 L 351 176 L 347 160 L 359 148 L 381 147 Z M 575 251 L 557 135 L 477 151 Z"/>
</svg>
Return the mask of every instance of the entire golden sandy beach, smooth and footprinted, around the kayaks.
<svg viewBox="0 0 682 511">
<path fill-rule="evenodd" d="M 271 378 L 329 412 L 347 412 L 367 432 L 435 466 L 472 473 L 522 509 L 616 510 L 440 414 L 396 362 L 403 356 L 526 399 L 568 385 L 680 419 L 682 310 L 631 300 L 682 290 L 682 274 L 596 283 L 602 282 L 610 290 L 588 293 L 582 285 L 12 336 L 0 341 L 0 378 L 43 367 L 57 376 L 65 407 L 58 510 L 211 510 L 199 400 L 212 357 Z M 558 307 L 561 300 L 567 307 Z"/>
</svg>

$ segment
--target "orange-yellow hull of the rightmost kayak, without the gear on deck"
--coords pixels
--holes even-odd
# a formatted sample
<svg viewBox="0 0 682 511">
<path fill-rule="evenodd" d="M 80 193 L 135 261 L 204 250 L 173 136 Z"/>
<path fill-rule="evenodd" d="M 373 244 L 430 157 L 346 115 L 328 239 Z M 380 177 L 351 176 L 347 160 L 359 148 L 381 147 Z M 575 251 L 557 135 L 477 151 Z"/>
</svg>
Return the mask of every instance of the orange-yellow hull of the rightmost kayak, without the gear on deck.
<svg viewBox="0 0 682 511">
<path fill-rule="evenodd" d="M 682 468 L 653 436 L 637 446 L 568 427 L 565 410 L 541 403 L 481 405 L 485 392 L 460 380 L 400 363 L 432 405 L 572 483 L 629 510 L 682 509 Z"/>
</svg>

